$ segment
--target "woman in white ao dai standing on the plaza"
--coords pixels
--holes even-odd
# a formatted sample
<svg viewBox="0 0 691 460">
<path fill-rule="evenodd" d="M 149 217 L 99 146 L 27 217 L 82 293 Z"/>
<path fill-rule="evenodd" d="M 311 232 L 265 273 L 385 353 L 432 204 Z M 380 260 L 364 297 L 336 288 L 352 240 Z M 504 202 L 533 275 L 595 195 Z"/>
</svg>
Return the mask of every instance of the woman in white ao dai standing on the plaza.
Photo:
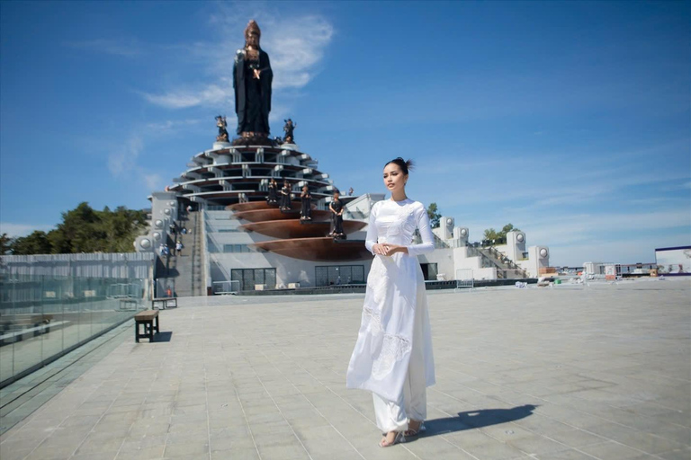
<svg viewBox="0 0 691 460">
<path fill-rule="evenodd" d="M 412 161 L 384 166 L 390 199 L 374 204 L 365 246 L 374 255 L 363 319 L 346 376 L 348 388 L 372 392 L 377 427 L 390 447 L 424 429 L 426 387 L 435 384 L 425 280 L 417 254 L 435 250 L 425 206 L 406 196 Z M 419 230 L 422 243 L 413 244 Z"/>
</svg>

